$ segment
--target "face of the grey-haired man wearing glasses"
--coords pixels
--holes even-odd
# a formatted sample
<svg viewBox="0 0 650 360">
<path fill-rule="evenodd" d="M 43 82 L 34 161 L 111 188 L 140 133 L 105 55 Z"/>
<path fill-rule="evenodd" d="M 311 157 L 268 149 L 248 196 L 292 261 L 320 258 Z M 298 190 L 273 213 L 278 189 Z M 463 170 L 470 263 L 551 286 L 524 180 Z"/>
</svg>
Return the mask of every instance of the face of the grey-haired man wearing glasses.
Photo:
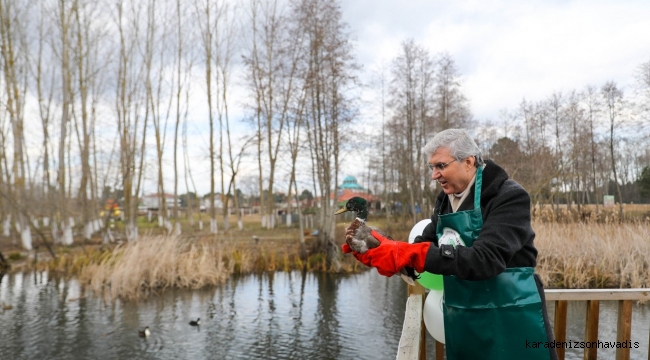
<svg viewBox="0 0 650 360">
<path fill-rule="evenodd" d="M 445 194 L 463 192 L 476 174 L 473 156 L 455 161 L 446 147 L 438 148 L 429 157 L 429 164 L 433 165 L 431 178 L 440 183 Z M 444 167 L 444 170 L 441 170 L 441 167 Z"/>
</svg>

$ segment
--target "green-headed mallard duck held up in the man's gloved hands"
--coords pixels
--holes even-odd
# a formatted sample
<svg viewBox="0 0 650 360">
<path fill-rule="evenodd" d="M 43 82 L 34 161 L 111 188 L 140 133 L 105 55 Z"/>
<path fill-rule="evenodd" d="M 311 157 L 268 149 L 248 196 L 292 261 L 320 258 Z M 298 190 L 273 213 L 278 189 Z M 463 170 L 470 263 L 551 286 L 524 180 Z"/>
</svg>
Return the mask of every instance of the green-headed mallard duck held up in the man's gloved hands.
<svg viewBox="0 0 650 360">
<path fill-rule="evenodd" d="M 352 197 L 345 203 L 345 206 L 343 206 L 334 214 L 339 215 L 348 211 L 354 212 L 356 214 L 356 218 L 352 224 L 350 224 L 350 227 L 356 229 L 354 237 L 350 240 L 345 240 L 352 251 L 363 254 L 369 249 L 373 249 L 379 246 L 379 240 L 375 239 L 375 237 L 370 233 L 372 230 L 378 232 L 388 239 L 393 239 L 380 228 L 375 226 L 368 226 L 366 224 L 368 221 L 368 202 L 366 199 L 359 196 Z M 415 280 L 419 278 L 419 276 L 415 274 L 415 270 L 409 267 L 401 269 L 400 276 L 409 285 L 415 285 Z"/>
</svg>

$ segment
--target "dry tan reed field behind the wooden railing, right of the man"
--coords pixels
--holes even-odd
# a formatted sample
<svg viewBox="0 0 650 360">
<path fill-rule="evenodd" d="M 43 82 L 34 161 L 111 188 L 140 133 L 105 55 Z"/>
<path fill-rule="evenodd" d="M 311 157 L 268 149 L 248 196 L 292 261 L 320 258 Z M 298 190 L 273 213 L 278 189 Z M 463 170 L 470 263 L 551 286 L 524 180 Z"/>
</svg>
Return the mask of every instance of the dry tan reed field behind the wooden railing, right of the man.
<svg viewBox="0 0 650 360">
<path fill-rule="evenodd" d="M 536 221 L 537 269 L 548 288 L 649 288 L 648 223 Z"/>
</svg>

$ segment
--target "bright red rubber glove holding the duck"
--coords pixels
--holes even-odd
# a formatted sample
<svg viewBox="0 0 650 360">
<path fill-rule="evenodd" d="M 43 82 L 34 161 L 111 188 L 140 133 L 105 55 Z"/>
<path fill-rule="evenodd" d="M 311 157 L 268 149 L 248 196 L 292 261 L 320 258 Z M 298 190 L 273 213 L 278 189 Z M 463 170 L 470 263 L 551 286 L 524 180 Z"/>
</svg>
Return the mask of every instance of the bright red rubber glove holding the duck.
<svg viewBox="0 0 650 360">
<path fill-rule="evenodd" d="M 387 239 L 374 230 L 370 234 L 379 240 L 378 247 L 363 254 L 352 251 L 348 244 L 343 244 L 341 249 L 346 254 L 352 253 L 364 265 L 377 268 L 377 272 L 384 276 L 393 276 L 407 266 L 419 273 L 424 272 L 424 261 L 431 246 L 430 242 L 409 244 Z"/>
</svg>

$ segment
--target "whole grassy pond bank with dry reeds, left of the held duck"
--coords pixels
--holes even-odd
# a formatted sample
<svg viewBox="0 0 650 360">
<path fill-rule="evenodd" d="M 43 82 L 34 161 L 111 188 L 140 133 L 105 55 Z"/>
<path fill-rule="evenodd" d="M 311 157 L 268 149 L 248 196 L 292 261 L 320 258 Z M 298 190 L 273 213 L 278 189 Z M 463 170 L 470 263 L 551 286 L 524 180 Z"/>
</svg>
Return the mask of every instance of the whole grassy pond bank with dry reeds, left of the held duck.
<svg viewBox="0 0 650 360">
<path fill-rule="evenodd" d="M 344 224 L 337 227 L 343 238 Z M 352 273 L 365 269 L 352 256 L 341 255 L 338 269 L 328 266 L 305 235 L 306 258 L 300 256 L 297 229 L 231 230 L 218 235 L 166 236 L 148 232 L 138 241 L 102 243 L 101 239 L 53 246 L 53 258 L 43 246 L 31 252 L 5 244 L 8 272 L 47 271 L 76 277 L 107 298 L 138 299 L 168 288 L 198 289 L 222 284 L 232 275 L 306 270 Z"/>
</svg>

